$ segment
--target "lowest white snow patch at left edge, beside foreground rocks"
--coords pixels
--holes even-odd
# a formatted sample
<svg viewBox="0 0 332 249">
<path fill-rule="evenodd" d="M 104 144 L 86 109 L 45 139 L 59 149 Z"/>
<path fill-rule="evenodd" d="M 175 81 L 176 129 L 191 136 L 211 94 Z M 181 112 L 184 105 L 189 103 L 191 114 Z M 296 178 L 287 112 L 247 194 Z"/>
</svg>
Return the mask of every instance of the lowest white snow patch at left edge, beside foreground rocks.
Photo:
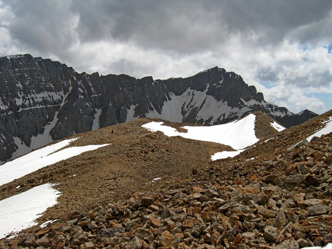
<svg viewBox="0 0 332 249">
<path fill-rule="evenodd" d="M 0 201 L 0 239 L 36 225 L 34 221 L 47 207 L 55 205 L 61 192 L 43 184 Z"/>
</svg>

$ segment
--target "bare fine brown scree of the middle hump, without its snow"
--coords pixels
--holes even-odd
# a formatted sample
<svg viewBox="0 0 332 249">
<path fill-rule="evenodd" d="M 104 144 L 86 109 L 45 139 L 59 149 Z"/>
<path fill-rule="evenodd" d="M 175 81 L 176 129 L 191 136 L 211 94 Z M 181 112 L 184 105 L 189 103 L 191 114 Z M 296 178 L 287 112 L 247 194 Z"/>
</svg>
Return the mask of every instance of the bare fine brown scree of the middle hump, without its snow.
<svg viewBox="0 0 332 249">
<path fill-rule="evenodd" d="M 259 138 L 277 133 L 269 123 L 273 121 L 272 118 L 260 112 L 255 112 L 255 115 Z M 118 200 L 125 193 L 144 191 L 154 178 L 160 177 L 162 182 L 180 180 L 193 168 L 208 163 L 215 152 L 234 150 L 214 142 L 168 137 L 141 127 L 151 121 L 162 121 L 164 125 L 181 132 L 186 131 L 181 128 L 184 125 L 197 126 L 144 118 L 77 134 L 79 139 L 67 147 L 110 145 L 84 152 L 5 184 L 0 187 L 0 200 L 44 183 L 58 183 L 57 189 L 62 192 L 58 204 L 49 208 L 40 220 L 61 220 L 73 210 L 105 205 L 110 199 Z"/>
</svg>

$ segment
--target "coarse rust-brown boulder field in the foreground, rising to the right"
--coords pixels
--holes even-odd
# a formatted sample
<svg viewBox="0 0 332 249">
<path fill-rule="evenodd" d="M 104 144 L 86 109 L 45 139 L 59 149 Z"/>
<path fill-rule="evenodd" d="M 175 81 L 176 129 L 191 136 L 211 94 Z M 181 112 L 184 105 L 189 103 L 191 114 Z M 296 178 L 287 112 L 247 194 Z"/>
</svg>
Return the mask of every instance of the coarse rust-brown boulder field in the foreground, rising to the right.
<svg viewBox="0 0 332 249">
<path fill-rule="evenodd" d="M 278 151 L 279 152 L 279 151 Z M 302 248 L 332 242 L 332 133 L 275 157 L 214 161 L 1 249 Z"/>
</svg>

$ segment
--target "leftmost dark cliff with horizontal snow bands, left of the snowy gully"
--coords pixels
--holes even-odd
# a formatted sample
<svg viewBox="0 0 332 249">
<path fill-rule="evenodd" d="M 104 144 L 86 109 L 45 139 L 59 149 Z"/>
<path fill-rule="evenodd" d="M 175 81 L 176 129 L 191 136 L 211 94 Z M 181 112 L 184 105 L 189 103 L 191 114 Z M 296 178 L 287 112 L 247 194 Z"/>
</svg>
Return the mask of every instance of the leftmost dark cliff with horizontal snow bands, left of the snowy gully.
<svg viewBox="0 0 332 249">
<path fill-rule="evenodd" d="M 74 73 L 28 54 L 0 58 L 0 161 L 11 158 L 19 141 L 30 147 L 31 138 L 44 133 L 71 91 Z"/>
</svg>

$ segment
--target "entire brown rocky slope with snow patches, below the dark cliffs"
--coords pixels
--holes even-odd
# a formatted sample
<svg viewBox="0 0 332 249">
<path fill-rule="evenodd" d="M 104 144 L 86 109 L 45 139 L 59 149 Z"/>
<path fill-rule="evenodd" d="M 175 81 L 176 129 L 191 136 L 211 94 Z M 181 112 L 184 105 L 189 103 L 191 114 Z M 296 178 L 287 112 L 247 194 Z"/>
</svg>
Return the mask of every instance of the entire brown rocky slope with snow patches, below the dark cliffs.
<svg viewBox="0 0 332 249">
<path fill-rule="evenodd" d="M 235 130 L 143 118 L 57 141 L 25 156 L 46 149 L 60 161 L 0 187 L 0 247 L 331 247 L 331 124 L 332 111 L 287 129 L 259 112 Z M 197 140 L 213 132 L 214 142 Z M 224 138 L 242 132 L 251 142 Z M 210 160 L 235 148 L 244 151 Z"/>
</svg>

